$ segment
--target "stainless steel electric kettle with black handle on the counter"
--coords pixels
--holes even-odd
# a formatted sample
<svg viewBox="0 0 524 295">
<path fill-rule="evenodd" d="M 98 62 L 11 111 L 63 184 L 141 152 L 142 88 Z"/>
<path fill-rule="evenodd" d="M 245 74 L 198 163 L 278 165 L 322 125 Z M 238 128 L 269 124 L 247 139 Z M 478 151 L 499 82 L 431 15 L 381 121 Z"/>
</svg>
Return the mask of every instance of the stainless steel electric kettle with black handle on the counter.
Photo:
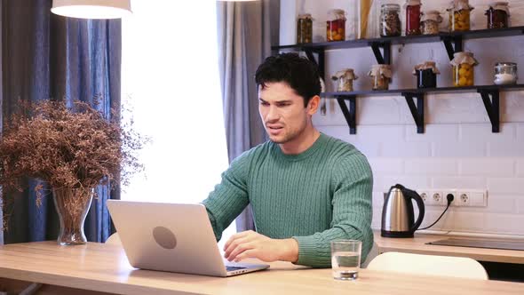
<svg viewBox="0 0 524 295">
<path fill-rule="evenodd" d="M 417 202 L 418 218 L 414 221 L 415 212 L 411 199 Z M 382 208 L 382 236 L 413 237 L 424 219 L 424 201 L 416 191 L 396 184 L 385 195 Z"/>
</svg>

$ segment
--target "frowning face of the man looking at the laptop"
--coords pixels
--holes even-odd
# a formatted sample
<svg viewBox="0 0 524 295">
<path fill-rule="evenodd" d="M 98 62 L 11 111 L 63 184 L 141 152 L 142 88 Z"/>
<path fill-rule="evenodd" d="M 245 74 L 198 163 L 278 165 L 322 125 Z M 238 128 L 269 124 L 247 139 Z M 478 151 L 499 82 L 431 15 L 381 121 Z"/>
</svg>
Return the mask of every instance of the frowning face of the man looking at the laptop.
<svg viewBox="0 0 524 295">
<path fill-rule="evenodd" d="M 290 85 L 282 82 L 258 86 L 258 111 L 269 139 L 284 144 L 300 140 L 310 124 L 313 113 L 304 107 L 304 99 Z"/>
</svg>

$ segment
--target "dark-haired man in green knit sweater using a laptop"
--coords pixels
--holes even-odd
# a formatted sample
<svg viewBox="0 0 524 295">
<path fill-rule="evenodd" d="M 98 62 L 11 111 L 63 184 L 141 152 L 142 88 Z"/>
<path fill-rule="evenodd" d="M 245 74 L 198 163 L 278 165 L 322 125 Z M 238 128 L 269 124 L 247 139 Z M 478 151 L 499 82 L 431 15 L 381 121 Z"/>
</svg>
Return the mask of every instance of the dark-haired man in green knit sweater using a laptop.
<svg viewBox="0 0 524 295">
<path fill-rule="evenodd" d="M 267 58 L 255 80 L 270 140 L 234 159 L 203 201 L 217 240 L 251 204 L 257 232 L 231 236 L 226 259 L 330 267 L 330 241 L 356 239 L 362 241 L 364 261 L 373 244 L 372 174 L 356 148 L 314 128 L 318 68 L 283 53 Z"/>
</svg>

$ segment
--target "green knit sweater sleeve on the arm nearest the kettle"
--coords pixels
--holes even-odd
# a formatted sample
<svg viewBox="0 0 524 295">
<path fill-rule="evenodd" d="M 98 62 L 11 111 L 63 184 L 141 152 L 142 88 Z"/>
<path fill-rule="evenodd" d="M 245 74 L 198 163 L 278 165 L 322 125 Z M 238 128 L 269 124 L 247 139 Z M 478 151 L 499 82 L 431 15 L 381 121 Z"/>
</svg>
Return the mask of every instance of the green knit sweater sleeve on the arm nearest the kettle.
<svg viewBox="0 0 524 295">
<path fill-rule="evenodd" d="M 330 267 L 330 242 L 333 240 L 360 240 L 361 262 L 366 259 L 373 246 L 373 176 L 366 157 L 355 153 L 339 161 L 333 171 L 332 184 L 334 194 L 331 199 L 331 227 L 314 235 L 293 236 L 298 242 L 297 264 Z"/>
</svg>

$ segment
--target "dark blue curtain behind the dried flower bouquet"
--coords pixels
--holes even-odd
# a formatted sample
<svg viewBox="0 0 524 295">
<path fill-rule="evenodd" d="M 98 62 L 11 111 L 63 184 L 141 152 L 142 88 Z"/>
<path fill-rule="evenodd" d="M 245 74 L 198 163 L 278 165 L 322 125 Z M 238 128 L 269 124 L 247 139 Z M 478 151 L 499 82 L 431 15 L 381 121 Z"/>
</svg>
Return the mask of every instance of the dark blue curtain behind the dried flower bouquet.
<svg viewBox="0 0 524 295">
<path fill-rule="evenodd" d="M 93 102 L 107 118 L 120 111 L 122 27 L 120 20 L 77 20 L 52 14 L 52 0 L 2 1 L 2 116 L 8 119 L 19 100 Z M 3 195 L 8 228 L 4 243 L 56 239 L 58 215 L 52 195 L 36 206 L 37 179 L 27 189 Z M 105 205 L 119 198 L 118 187 L 98 187 L 85 221 L 91 242 L 104 242 L 113 231 Z M 48 190 L 46 190 L 48 191 Z M 6 198 L 12 202 L 6 203 Z"/>
</svg>

